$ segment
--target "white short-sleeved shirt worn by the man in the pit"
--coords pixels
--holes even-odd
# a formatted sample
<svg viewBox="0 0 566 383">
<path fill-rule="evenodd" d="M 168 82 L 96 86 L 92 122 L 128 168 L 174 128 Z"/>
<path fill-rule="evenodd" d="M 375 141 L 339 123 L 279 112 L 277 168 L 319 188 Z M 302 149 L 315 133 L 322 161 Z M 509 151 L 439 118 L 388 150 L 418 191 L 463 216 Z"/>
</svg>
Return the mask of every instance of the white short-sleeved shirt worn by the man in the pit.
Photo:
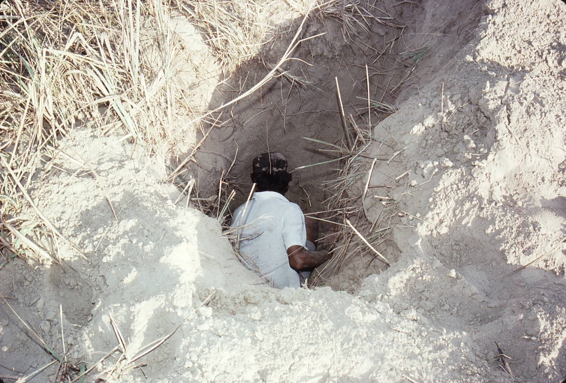
<svg viewBox="0 0 566 383">
<path fill-rule="evenodd" d="M 287 256 L 287 249 L 305 246 L 307 240 L 305 217 L 296 203 L 276 192 L 255 192 L 247 207 L 236 209 L 231 226 L 241 228 L 236 232 L 239 250 L 252 270 L 259 269 L 275 287 L 301 287 Z"/>
</svg>

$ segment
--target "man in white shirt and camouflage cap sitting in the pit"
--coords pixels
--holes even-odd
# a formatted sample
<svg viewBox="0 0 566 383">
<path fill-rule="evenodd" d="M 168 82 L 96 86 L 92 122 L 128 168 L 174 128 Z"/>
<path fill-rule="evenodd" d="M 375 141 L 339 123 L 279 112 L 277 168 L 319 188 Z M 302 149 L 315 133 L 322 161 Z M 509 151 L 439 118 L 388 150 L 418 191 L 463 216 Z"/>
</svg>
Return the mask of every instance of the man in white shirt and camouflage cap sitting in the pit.
<svg viewBox="0 0 566 383">
<path fill-rule="evenodd" d="M 254 158 L 251 180 L 254 195 L 234 211 L 231 222 L 242 258 L 273 287 L 301 287 L 310 271 L 331 258 L 326 250 L 316 251 L 318 222 L 305 219 L 301 208 L 285 198 L 291 174 L 283 154 Z"/>
</svg>

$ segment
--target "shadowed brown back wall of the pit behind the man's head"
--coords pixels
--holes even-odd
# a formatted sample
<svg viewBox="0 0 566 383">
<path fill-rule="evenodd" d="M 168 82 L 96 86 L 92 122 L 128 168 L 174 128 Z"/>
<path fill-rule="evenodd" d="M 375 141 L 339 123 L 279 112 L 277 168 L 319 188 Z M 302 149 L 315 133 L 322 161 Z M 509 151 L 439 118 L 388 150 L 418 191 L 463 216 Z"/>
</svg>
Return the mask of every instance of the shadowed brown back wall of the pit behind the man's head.
<svg viewBox="0 0 566 383">
<path fill-rule="evenodd" d="M 371 99 L 394 105 L 401 82 L 413 65 L 410 59 L 401 58 L 401 52 L 421 48 L 400 38 L 402 26 L 410 24 L 421 12 L 418 5 L 388 1 L 379 10 L 366 8 L 377 19 L 368 16 L 365 22 L 353 9 L 342 16 L 337 9 L 312 10 L 297 38 L 305 40 L 291 54 L 293 59 L 280 66 L 276 78 L 225 110 L 196 153 L 190 173 L 196 179 L 199 197 L 217 195 L 224 172 L 228 184 L 225 194 L 231 189 L 237 193 L 230 206 L 233 210 L 246 201 L 251 188 L 252 159 L 261 152 L 280 151 L 288 158 L 289 170 L 293 172 L 288 193 L 291 201 L 306 211 L 325 208 L 322 202 L 329 197 L 324 192 L 325 182 L 336 178 L 336 168 L 340 166 L 331 160 L 341 156 L 340 150 L 328 151 L 336 148 L 325 143 L 344 151 L 350 149 L 338 107 L 336 82 L 345 118 L 352 114 L 360 129 L 367 131 L 365 65 Z M 273 69 L 289 48 L 300 21 L 285 24 L 284 30 L 275 33 L 257 56 L 231 73 L 226 84 L 213 95 L 211 109 L 247 91 Z M 383 115 L 376 112 L 372 109 L 374 122 Z M 351 125 L 349 121 L 347 124 Z M 350 134 L 355 135 L 354 131 Z M 320 165 L 308 167 L 312 164 Z"/>
</svg>

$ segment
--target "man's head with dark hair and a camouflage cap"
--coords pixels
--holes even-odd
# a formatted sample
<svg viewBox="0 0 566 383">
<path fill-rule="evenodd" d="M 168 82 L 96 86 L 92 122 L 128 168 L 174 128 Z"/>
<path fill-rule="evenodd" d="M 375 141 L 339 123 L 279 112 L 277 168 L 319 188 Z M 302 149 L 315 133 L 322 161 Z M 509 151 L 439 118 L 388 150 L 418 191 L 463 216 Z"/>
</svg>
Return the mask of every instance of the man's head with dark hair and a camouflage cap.
<svg viewBox="0 0 566 383">
<path fill-rule="evenodd" d="M 258 192 L 285 195 L 292 178 L 287 172 L 287 159 L 281 153 L 262 153 L 252 161 L 251 181 Z"/>
</svg>

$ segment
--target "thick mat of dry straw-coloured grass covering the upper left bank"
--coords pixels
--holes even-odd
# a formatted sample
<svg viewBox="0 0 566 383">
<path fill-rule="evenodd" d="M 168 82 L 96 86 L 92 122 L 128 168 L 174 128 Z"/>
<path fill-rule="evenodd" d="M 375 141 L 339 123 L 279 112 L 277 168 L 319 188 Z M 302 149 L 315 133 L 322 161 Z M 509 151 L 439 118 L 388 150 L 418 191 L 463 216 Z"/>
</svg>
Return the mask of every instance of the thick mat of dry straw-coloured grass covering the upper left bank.
<svg viewBox="0 0 566 383">
<path fill-rule="evenodd" d="M 2 3 L 0 267 L 14 254 L 60 261 L 56 241 L 51 241 L 55 251 L 38 245 L 62 236 L 31 189 L 40 188 L 33 176 L 60 155 L 59 140 L 74 127 L 127 134 L 153 155 L 175 156 L 179 143 L 198 148 L 185 141 L 182 122 L 194 121 L 192 134 L 208 122 L 199 118 L 207 107 L 202 85 L 216 83 L 218 74 L 195 63 L 194 78 L 179 79 L 179 66 L 190 61 L 183 52 L 192 47 L 173 31 L 178 19 L 190 19 L 207 36 L 212 53 L 205 64 L 219 62 L 229 72 L 266 42 L 272 25 L 260 20 L 277 11 L 272 3 Z"/>
</svg>

